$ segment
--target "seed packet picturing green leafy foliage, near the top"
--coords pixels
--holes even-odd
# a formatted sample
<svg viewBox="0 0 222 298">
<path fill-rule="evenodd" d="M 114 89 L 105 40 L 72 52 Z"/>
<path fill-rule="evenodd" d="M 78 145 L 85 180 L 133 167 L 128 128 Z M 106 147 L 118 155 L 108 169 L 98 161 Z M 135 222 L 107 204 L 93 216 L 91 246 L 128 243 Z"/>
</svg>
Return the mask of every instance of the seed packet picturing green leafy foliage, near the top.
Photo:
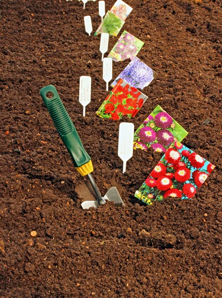
<svg viewBox="0 0 222 298">
<path fill-rule="evenodd" d="M 112 36 L 117 36 L 124 23 L 125 22 L 118 16 L 108 11 L 94 35 L 97 36 L 100 33 L 109 33 Z"/>
</svg>

